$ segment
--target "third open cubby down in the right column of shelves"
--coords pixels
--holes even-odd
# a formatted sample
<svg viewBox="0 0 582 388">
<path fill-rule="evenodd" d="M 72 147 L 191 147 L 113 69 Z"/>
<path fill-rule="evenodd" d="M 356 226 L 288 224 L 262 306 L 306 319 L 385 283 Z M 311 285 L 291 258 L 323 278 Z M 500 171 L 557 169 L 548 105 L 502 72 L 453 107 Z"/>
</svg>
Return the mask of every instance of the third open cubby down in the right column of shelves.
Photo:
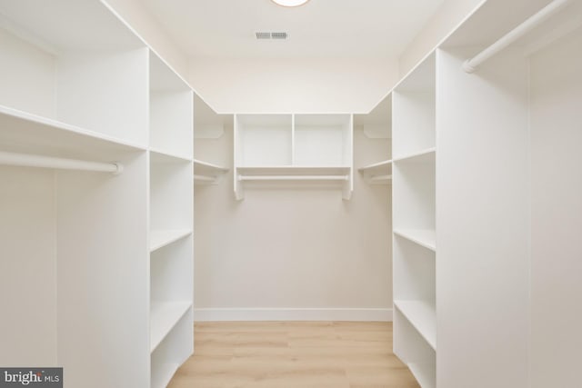
<svg viewBox="0 0 582 388">
<path fill-rule="evenodd" d="M 394 304 L 431 347 L 437 347 L 436 254 L 394 237 Z"/>
</svg>

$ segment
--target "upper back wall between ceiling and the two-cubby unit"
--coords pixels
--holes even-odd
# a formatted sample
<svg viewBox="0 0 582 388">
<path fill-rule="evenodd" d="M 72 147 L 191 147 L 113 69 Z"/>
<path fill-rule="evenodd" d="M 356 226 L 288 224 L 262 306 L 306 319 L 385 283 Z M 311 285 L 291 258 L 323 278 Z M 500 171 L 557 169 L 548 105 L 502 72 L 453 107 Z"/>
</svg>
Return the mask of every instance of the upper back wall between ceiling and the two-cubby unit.
<svg viewBox="0 0 582 388">
<path fill-rule="evenodd" d="M 218 112 L 367 113 L 397 76 L 387 59 L 195 58 L 189 80 Z"/>
</svg>

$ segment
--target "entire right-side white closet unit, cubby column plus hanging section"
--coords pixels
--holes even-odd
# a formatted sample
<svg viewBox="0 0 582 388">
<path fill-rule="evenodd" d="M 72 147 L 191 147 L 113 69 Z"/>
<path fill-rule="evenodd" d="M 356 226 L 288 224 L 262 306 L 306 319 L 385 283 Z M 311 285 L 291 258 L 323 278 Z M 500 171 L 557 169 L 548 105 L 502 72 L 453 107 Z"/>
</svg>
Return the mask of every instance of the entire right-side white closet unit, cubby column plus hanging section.
<svg viewBox="0 0 582 388">
<path fill-rule="evenodd" d="M 579 384 L 581 15 L 484 2 L 393 91 L 394 350 L 423 388 Z"/>
</svg>

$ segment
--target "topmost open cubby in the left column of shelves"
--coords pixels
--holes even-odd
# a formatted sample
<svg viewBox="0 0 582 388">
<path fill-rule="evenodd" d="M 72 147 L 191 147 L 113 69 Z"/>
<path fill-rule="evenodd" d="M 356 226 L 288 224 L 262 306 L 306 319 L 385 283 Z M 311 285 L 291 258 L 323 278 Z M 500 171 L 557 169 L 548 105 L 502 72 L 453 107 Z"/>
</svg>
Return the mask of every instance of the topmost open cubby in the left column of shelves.
<svg viewBox="0 0 582 388">
<path fill-rule="evenodd" d="M 166 62 L 149 51 L 150 147 L 192 158 L 194 92 Z"/>
</svg>

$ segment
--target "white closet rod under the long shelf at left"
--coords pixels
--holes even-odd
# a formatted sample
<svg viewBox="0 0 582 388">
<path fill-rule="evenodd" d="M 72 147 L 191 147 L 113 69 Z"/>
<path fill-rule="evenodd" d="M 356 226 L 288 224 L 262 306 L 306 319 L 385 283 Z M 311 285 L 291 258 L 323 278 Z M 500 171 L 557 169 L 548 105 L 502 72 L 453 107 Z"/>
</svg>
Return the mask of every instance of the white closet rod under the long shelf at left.
<svg viewBox="0 0 582 388">
<path fill-rule="evenodd" d="M 95 171 L 98 173 L 121 174 L 123 164 L 88 162 L 85 160 L 65 159 L 36 154 L 16 154 L 0 151 L 0 164 L 20 167 L 56 168 L 60 170 Z"/>
</svg>

